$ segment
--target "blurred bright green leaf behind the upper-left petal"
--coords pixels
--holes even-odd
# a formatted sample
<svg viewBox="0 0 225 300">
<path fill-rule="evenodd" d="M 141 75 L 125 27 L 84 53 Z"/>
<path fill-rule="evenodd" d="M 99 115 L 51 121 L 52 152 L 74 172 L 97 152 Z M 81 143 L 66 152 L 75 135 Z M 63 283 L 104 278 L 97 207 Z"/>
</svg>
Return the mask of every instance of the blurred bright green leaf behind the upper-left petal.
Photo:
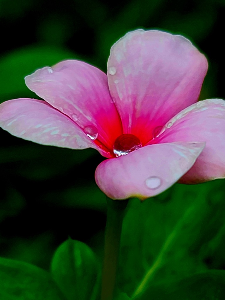
<svg viewBox="0 0 225 300">
<path fill-rule="evenodd" d="M 16 49 L 0 59 L 0 102 L 7 95 L 36 97 L 26 87 L 24 77 L 44 66 L 52 66 L 65 59 L 74 58 L 74 53 L 52 46 L 28 46 Z"/>
</svg>

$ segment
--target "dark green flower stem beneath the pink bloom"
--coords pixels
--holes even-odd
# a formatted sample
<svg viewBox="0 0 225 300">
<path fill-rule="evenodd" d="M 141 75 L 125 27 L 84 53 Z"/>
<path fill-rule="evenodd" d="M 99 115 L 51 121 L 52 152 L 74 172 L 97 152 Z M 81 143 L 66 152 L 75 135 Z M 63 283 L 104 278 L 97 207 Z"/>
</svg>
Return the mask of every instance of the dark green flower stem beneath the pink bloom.
<svg viewBox="0 0 225 300">
<path fill-rule="evenodd" d="M 120 236 L 128 200 L 112 200 L 108 198 L 107 204 L 101 300 L 112 300 L 115 294 Z"/>
</svg>

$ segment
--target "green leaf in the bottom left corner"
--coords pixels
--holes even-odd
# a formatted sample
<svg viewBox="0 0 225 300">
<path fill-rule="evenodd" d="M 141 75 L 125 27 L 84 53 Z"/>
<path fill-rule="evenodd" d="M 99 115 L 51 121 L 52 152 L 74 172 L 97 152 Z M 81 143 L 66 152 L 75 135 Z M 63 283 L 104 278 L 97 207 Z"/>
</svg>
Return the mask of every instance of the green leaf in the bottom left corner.
<svg viewBox="0 0 225 300">
<path fill-rule="evenodd" d="M 0 258 L 0 299 L 64 300 L 50 274 L 26 262 Z"/>
</svg>

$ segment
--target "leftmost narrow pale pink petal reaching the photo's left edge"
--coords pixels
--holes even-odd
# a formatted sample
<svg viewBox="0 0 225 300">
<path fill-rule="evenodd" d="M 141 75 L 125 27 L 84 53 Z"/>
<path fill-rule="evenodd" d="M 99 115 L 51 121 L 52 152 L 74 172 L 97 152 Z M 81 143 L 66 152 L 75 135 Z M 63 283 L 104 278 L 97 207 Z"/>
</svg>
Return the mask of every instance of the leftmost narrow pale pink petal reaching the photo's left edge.
<svg viewBox="0 0 225 300">
<path fill-rule="evenodd" d="M 69 117 L 42 100 L 20 98 L 3 102 L 0 126 L 16 137 L 43 145 L 102 151 Z"/>
</svg>

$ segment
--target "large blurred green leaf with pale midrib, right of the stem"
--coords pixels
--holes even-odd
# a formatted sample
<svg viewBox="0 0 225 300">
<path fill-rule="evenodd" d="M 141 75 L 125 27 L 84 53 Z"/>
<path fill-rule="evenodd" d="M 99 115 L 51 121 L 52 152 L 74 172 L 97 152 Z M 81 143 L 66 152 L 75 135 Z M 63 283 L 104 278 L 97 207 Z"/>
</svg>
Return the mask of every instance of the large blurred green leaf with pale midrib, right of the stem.
<svg viewBox="0 0 225 300">
<path fill-rule="evenodd" d="M 176 184 L 155 199 L 131 200 L 122 233 L 123 291 L 131 295 L 136 286 L 137 294 L 150 283 L 179 280 L 207 268 L 205 244 L 224 225 L 222 184 Z M 222 191 L 217 200 L 214 190 Z"/>
</svg>

